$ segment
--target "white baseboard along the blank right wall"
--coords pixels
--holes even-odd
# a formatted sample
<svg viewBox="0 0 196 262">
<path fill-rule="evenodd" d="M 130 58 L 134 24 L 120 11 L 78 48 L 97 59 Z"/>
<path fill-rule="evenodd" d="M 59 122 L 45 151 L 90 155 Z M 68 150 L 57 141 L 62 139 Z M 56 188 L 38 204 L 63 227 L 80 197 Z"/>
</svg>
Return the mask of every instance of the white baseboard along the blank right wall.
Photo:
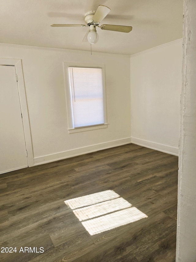
<svg viewBox="0 0 196 262">
<path fill-rule="evenodd" d="M 154 142 L 139 139 L 136 137 L 131 137 L 131 143 L 142 146 L 142 147 L 148 147 L 151 149 L 155 149 L 155 150 L 158 150 L 164 153 L 176 155 L 176 156 L 178 156 L 179 154 L 178 147 L 171 147 L 171 146 L 167 146 L 167 145 L 163 145 L 159 143 L 154 143 Z"/>
</svg>

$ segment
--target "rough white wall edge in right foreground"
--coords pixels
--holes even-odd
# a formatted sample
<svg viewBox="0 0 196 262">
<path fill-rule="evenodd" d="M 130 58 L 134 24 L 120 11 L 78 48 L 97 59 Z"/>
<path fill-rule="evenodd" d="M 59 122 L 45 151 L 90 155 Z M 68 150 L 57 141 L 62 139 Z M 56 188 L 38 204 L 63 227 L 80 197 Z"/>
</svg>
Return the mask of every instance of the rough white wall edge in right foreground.
<svg viewBox="0 0 196 262">
<path fill-rule="evenodd" d="M 196 261 L 196 1 L 184 0 L 176 262 Z"/>
</svg>

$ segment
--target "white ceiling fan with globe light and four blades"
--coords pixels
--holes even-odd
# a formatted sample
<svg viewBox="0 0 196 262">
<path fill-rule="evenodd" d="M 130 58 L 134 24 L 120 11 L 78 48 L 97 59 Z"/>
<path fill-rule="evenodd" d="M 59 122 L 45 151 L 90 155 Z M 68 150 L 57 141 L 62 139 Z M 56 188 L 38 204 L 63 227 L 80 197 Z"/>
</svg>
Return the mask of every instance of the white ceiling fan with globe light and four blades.
<svg viewBox="0 0 196 262">
<path fill-rule="evenodd" d="M 129 33 L 132 30 L 132 26 L 126 25 L 101 25 L 99 26 L 100 22 L 107 16 L 107 14 L 111 11 L 111 9 L 107 6 L 98 6 L 96 11 L 91 11 L 85 14 L 85 22 L 87 25 L 74 25 L 74 24 L 52 24 L 52 27 L 61 27 L 61 26 L 89 26 L 90 29 L 86 32 L 83 42 L 89 41 L 90 44 L 96 44 L 99 40 L 98 33 L 96 31 L 96 26 L 98 26 L 102 30 L 110 30 L 110 31 L 117 31 L 117 32 L 124 32 Z"/>
</svg>

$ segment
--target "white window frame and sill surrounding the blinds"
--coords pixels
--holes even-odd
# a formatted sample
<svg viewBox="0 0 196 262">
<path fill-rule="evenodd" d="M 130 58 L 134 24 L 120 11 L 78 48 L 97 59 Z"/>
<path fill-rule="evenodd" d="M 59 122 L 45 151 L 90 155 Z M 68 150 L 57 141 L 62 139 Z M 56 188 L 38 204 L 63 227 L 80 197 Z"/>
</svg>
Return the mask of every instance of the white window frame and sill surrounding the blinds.
<svg viewBox="0 0 196 262">
<path fill-rule="evenodd" d="M 100 64 L 81 64 L 64 62 L 64 79 L 65 79 L 65 90 L 66 90 L 66 104 L 67 104 L 67 116 L 68 116 L 68 131 L 69 133 L 77 133 L 89 130 L 96 130 L 107 128 L 107 114 L 106 114 L 106 91 L 105 91 L 105 65 Z M 102 85 L 103 85 L 103 109 L 104 109 L 104 123 L 85 127 L 74 127 L 74 116 L 72 108 L 72 96 L 70 87 L 70 73 L 69 67 L 83 67 L 83 68 L 101 68 L 102 69 Z"/>
</svg>

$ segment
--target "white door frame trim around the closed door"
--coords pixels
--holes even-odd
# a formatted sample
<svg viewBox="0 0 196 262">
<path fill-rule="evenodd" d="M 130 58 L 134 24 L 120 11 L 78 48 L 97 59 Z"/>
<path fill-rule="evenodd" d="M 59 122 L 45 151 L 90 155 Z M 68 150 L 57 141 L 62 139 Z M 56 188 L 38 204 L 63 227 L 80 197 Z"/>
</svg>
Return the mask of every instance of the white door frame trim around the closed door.
<svg viewBox="0 0 196 262">
<path fill-rule="evenodd" d="M 22 71 L 22 61 L 21 59 L 0 58 L 0 65 L 15 66 L 15 70 L 18 78 L 17 85 L 18 85 L 19 100 L 21 104 L 21 113 L 22 113 L 22 122 L 23 122 L 23 129 L 25 135 L 26 150 L 28 154 L 27 162 L 28 162 L 28 166 L 34 166 L 32 137 L 31 137 L 31 129 L 29 123 L 29 116 L 28 116 L 25 82 L 24 82 L 23 71 Z"/>
</svg>

